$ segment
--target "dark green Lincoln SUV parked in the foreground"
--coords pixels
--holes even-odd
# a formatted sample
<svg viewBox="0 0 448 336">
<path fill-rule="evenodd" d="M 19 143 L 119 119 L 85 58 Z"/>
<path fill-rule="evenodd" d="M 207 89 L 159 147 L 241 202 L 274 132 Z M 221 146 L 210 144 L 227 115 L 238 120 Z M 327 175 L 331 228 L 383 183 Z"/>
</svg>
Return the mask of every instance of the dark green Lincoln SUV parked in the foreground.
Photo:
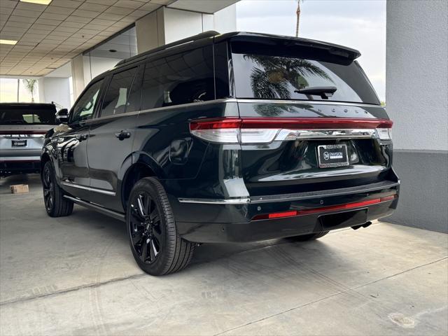
<svg viewBox="0 0 448 336">
<path fill-rule="evenodd" d="M 45 209 L 126 222 L 149 274 L 198 243 L 309 240 L 392 213 L 392 122 L 355 61 L 303 38 L 209 31 L 125 59 L 80 94 L 41 160 Z M 68 116 L 68 117 L 67 117 Z"/>
</svg>

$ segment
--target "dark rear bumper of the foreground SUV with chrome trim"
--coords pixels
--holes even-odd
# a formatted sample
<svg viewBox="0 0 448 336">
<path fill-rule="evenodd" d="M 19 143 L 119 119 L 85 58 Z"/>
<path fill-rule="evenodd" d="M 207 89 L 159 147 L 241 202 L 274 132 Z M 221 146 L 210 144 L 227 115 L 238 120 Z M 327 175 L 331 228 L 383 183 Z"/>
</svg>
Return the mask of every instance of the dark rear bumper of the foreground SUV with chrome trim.
<svg viewBox="0 0 448 336">
<path fill-rule="evenodd" d="M 323 192 L 225 200 L 227 203 L 221 202 L 223 200 L 170 201 L 179 235 L 183 239 L 204 243 L 244 242 L 363 225 L 367 221 L 392 214 L 398 204 L 398 194 L 398 181 L 384 181 Z M 391 196 L 395 198 L 388 200 L 387 197 Z M 372 200 L 381 199 L 384 201 L 369 204 Z M 232 204 L 229 201 L 240 203 Z M 369 205 L 340 209 L 343 204 L 358 202 L 367 202 Z M 337 209 L 333 209 L 334 207 Z M 254 220 L 255 216 L 282 211 L 299 211 L 299 215 Z"/>
</svg>

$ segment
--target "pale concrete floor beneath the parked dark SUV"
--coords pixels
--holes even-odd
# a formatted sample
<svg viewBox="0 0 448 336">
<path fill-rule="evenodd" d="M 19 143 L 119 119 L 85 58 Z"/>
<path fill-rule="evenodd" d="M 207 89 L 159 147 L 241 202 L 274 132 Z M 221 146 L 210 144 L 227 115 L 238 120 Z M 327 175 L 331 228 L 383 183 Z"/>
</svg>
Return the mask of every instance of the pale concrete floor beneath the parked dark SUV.
<svg viewBox="0 0 448 336">
<path fill-rule="evenodd" d="M 25 179 L 25 182 L 24 182 Z M 29 183 L 30 193 L 8 186 Z M 0 335 L 447 335 L 448 236 L 375 223 L 318 241 L 204 244 L 183 272 L 135 264 L 119 221 L 45 214 L 0 181 Z"/>
</svg>

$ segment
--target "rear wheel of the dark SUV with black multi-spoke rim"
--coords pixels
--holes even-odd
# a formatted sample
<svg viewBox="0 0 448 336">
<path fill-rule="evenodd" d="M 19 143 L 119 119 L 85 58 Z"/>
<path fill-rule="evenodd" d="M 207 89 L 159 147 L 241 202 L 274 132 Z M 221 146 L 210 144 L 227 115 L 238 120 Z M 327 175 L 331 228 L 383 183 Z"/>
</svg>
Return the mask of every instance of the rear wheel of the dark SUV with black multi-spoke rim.
<svg viewBox="0 0 448 336">
<path fill-rule="evenodd" d="M 132 255 L 148 274 L 178 272 L 193 257 L 195 244 L 177 233 L 167 193 L 153 177 L 139 180 L 132 188 L 127 203 L 126 227 Z"/>
</svg>

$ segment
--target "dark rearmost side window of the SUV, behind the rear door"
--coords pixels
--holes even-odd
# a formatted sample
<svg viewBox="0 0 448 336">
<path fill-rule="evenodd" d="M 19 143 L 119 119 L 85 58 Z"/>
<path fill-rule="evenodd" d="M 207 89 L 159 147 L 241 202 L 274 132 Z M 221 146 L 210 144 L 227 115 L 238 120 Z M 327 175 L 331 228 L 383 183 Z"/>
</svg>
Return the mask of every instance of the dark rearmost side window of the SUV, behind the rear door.
<svg viewBox="0 0 448 336">
<path fill-rule="evenodd" d="M 146 63 L 141 109 L 215 99 L 212 45 Z"/>
</svg>

